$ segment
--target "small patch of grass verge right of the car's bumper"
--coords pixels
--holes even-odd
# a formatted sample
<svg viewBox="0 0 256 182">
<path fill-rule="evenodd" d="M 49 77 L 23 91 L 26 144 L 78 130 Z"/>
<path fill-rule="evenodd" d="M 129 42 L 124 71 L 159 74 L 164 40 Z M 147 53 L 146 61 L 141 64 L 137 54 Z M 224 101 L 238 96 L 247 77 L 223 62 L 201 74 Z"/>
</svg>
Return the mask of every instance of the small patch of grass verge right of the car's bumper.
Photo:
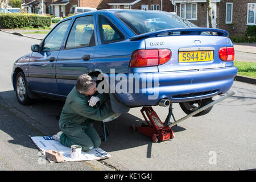
<svg viewBox="0 0 256 182">
<path fill-rule="evenodd" d="M 256 63 L 234 61 L 234 65 L 238 68 L 238 75 L 256 78 Z"/>
</svg>

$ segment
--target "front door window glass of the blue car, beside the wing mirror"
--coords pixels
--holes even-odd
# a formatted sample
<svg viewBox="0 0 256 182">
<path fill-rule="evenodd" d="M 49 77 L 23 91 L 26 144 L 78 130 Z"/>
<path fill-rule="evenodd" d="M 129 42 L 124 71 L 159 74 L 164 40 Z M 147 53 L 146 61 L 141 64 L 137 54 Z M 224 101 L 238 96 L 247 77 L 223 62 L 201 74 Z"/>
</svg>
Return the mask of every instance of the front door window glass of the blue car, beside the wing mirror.
<svg viewBox="0 0 256 182">
<path fill-rule="evenodd" d="M 44 39 L 43 51 L 59 50 L 63 41 L 65 32 L 71 20 L 60 23 L 54 30 Z"/>
</svg>

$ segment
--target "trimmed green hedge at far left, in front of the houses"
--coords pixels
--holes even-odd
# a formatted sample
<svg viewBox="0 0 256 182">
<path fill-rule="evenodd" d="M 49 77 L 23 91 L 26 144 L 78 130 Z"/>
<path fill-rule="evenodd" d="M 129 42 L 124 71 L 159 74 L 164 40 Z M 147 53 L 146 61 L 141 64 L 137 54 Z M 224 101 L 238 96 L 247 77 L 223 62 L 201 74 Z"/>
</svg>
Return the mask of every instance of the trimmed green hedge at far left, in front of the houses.
<svg viewBox="0 0 256 182">
<path fill-rule="evenodd" d="M 0 13 L 1 28 L 23 28 L 51 26 L 51 16 L 25 13 Z"/>
</svg>

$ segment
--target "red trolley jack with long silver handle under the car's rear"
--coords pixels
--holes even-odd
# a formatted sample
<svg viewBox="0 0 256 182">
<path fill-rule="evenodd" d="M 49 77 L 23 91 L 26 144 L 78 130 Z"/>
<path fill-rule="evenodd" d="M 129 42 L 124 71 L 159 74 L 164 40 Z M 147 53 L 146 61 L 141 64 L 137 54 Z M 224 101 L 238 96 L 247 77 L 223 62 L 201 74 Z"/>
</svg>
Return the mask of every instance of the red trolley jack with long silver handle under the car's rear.
<svg viewBox="0 0 256 182">
<path fill-rule="evenodd" d="M 174 114 L 172 113 L 172 103 L 169 103 L 169 113 L 167 115 L 166 121 L 164 123 L 162 123 L 162 121 L 160 120 L 160 118 L 158 117 L 158 115 L 156 114 L 156 112 L 152 109 L 151 106 L 144 106 L 141 109 L 141 113 L 145 119 L 145 121 L 147 122 L 147 125 L 145 123 L 142 123 L 142 126 L 130 126 L 130 130 L 131 131 L 138 131 L 138 133 L 147 135 L 148 137 L 151 137 L 153 142 L 158 142 L 158 140 L 160 142 L 165 141 L 165 140 L 169 140 L 169 139 L 173 139 L 174 138 L 174 132 L 172 131 L 171 127 L 177 125 L 177 123 L 180 123 L 181 121 L 184 121 L 185 119 L 192 117 L 193 115 L 200 113 L 201 111 L 213 106 L 214 104 L 217 104 L 218 102 L 233 96 L 234 94 L 236 94 L 236 90 L 234 90 L 233 92 L 230 92 L 228 94 L 226 94 L 225 96 L 222 96 L 220 98 L 218 98 L 217 100 L 210 102 L 210 104 L 205 105 L 203 107 L 201 107 L 200 109 L 197 109 L 195 111 L 193 111 L 192 113 L 186 115 L 185 117 L 179 119 L 178 121 L 175 120 L 174 118 Z M 144 114 L 146 113 L 146 115 Z M 173 123 L 170 123 L 170 119 L 171 117 L 174 118 Z"/>
</svg>

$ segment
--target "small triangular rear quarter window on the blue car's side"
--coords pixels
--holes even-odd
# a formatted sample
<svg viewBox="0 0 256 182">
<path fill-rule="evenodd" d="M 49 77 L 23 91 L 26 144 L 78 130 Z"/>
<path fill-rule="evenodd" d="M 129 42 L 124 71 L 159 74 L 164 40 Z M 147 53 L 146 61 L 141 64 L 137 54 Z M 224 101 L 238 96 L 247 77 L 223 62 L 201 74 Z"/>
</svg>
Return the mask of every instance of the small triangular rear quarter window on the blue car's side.
<svg viewBox="0 0 256 182">
<path fill-rule="evenodd" d="M 125 39 L 125 35 L 106 16 L 98 15 L 98 24 L 102 44 L 118 42 Z"/>
</svg>

